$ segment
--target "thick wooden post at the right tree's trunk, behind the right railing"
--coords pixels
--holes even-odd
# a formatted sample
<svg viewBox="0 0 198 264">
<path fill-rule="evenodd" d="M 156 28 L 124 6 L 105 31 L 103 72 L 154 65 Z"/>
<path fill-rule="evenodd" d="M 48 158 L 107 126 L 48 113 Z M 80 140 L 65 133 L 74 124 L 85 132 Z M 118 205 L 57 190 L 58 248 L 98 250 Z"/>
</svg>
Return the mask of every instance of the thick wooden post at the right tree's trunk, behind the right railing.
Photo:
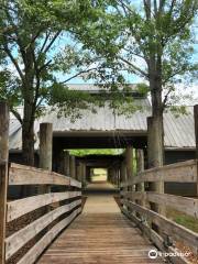
<svg viewBox="0 0 198 264">
<path fill-rule="evenodd" d="M 157 123 L 154 122 L 152 117 L 147 118 L 147 164 L 148 168 L 163 166 L 162 150 L 163 142 L 157 142 Z M 164 194 L 164 182 L 155 182 L 150 185 L 151 191 Z M 151 209 L 165 215 L 165 208 L 157 204 L 151 204 Z"/>
</svg>

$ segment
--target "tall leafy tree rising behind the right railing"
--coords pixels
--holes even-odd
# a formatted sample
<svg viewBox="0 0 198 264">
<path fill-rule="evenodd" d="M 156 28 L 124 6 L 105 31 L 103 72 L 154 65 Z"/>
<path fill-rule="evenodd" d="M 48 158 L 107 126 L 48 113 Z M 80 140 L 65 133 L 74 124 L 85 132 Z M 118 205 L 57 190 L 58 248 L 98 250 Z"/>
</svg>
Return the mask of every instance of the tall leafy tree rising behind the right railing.
<svg viewBox="0 0 198 264">
<path fill-rule="evenodd" d="M 169 99 L 175 97 L 176 84 L 197 73 L 191 54 L 198 2 L 142 0 L 136 7 L 132 0 L 103 2 L 106 9 L 100 12 L 98 21 L 90 23 L 86 32 L 79 29 L 78 37 L 85 43 L 84 48 L 91 47 L 106 58 L 106 62 L 99 62 L 105 68 L 100 75 L 103 84 L 109 76 L 111 80 L 123 82 L 129 74 L 148 82 L 152 98 L 148 130 L 153 138 L 150 166 L 161 166 L 163 112 Z"/>
</svg>

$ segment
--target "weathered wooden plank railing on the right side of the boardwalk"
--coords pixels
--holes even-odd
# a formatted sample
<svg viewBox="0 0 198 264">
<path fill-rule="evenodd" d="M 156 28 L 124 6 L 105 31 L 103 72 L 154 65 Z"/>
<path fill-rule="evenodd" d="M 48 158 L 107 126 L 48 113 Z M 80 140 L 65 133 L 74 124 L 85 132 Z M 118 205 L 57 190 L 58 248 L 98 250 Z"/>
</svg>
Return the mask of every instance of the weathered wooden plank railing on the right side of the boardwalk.
<svg viewBox="0 0 198 264">
<path fill-rule="evenodd" d="M 172 221 L 150 209 L 151 202 L 174 208 L 198 221 L 198 199 L 176 195 L 146 191 L 147 183 L 194 183 L 198 184 L 198 161 L 187 161 L 158 168 L 146 169 L 138 174 L 131 182 L 121 184 L 122 212 L 127 215 L 163 252 L 174 253 L 173 263 L 188 263 L 177 254 L 175 241 L 189 246 L 198 254 L 198 233 Z M 140 185 L 142 188 L 140 191 Z M 132 189 L 133 191 L 130 191 Z M 139 190 L 139 191 L 136 191 Z M 176 256 L 175 256 L 176 255 Z"/>
</svg>

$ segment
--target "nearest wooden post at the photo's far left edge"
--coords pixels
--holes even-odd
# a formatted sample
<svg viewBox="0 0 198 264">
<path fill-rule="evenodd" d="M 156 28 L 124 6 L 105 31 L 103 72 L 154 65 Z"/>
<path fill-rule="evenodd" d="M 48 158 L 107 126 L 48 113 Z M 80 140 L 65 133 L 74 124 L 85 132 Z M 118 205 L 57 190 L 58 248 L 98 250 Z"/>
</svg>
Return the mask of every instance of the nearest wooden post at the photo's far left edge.
<svg viewBox="0 0 198 264">
<path fill-rule="evenodd" d="M 0 102 L 0 263 L 6 263 L 7 191 L 9 158 L 9 109 Z"/>
</svg>

